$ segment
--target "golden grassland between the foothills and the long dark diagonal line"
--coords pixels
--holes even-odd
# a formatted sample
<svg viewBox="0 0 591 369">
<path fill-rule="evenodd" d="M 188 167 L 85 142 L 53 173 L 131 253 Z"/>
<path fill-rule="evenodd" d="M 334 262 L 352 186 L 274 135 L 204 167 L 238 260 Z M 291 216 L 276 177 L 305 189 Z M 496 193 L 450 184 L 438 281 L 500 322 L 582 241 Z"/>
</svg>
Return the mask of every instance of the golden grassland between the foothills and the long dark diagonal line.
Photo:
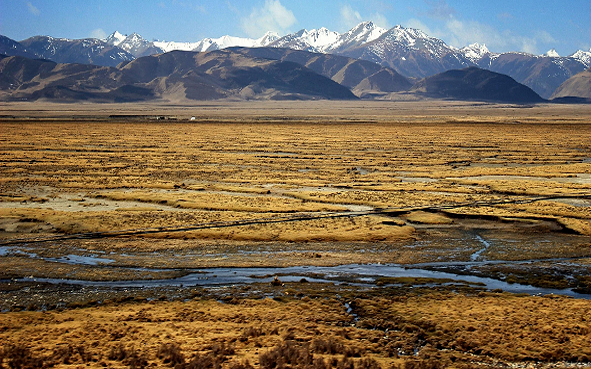
<svg viewBox="0 0 591 369">
<path fill-rule="evenodd" d="M 463 115 L 450 121 L 447 110 L 436 116 L 432 106 L 425 108 L 424 115 L 410 114 L 406 104 L 389 110 L 385 106 L 377 105 L 375 115 L 371 115 L 374 110 L 365 111 L 374 123 L 354 124 L 335 124 L 344 118 L 338 115 L 341 110 L 355 111 L 339 103 L 327 108 L 336 112 L 334 118 L 308 112 L 296 120 L 297 109 L 272 111 L 290 117 L 287 123 L 276 122 L 283 115 L 272 115 L 271 123 L 261 123 L 266 119 L 260 110 L 257 117 L 240 104 L 237 110 L 249 111 L 242 120 L 258 119 L 259 123 L 240 123 L 232 115 L 236 109 L 228 112 L 223 105 L 204 110 L 220 119 L 220 109 L 225 111 L 231 122 L 224 124 L 4 121 L 2 218 L 43 223 L 40 231 L 50 227 L 77 233 L 259 214 L 343 211 L 347 206 L 405 209 L 591 192 L 588 109 L 572 108 L 568 115 L 562 106 L 458 105 L 449 109 Z M 361 119 L 356 114 L 352 117 Z M 181 210 L 191 211 L 181 215 Z M 589 234 L 591 224 L 591 207 L 564 203 L 459 208 L 457 212 L 551 217 L 583 234 Z M 285 231 L 299 232 L 291 227 L 286 223 Z M 367 228 L 335 230 L 347 234 L 346 240 L 362 241 Z M 242 239 L 233 232 L 203 232 L 203 237 Z M 263 233 L 276 235 L 272 230 Z M 391 237 L 408 234 L 392 233 Z M 315 232 L 311 236 L 318 239 Z M 328 240 L 334 239 L 328 235 Z"/>
</svg>

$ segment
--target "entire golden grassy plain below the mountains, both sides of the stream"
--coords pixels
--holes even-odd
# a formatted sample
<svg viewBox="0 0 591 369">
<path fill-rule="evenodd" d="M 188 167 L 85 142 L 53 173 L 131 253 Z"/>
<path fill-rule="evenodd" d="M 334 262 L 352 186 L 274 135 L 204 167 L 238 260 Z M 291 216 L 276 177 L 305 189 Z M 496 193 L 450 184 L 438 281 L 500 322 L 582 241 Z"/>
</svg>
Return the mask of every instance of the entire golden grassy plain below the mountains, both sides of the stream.
<svg viewBox="0 0 591 369">
<path fill-rule="evenodd" d="M 15 103 L 2 114 L 1 278 L 492 261 L 469 272 L 591 291 L 588 106 Z M 30 286 L 2 286 L 18 310 Z M 246 360 L 321 368 L 319 358 L 343 368 L 566 367 L 591 358 L 587 300 L 257 288 L 277 301 L 220 304 L 199 291 L 188 302 L 144 296 L 2 313 L 0 366 L 15 357 L 57 367 L 236 368 Z M 85 296 L 82 305 L 96 305 Z"/>
</svg>

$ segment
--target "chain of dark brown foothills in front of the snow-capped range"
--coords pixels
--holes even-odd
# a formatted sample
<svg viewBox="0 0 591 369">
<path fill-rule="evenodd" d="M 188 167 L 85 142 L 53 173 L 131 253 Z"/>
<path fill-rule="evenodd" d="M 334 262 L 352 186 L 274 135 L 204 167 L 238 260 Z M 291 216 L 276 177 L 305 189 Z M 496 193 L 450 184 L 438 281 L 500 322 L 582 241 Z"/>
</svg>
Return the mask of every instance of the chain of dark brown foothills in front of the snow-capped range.
<svg viewBox="0 0 591 369">
<path fill-rule="evenodd" d="M 133 102 L 416 98 L 536 103 L 512 78 L 476 67 L 411 83 L 393 69 L 330 54 L 278 48 L 172 51 L 117 67 L 0 56 L 0 100 Z"/>
</svg>

